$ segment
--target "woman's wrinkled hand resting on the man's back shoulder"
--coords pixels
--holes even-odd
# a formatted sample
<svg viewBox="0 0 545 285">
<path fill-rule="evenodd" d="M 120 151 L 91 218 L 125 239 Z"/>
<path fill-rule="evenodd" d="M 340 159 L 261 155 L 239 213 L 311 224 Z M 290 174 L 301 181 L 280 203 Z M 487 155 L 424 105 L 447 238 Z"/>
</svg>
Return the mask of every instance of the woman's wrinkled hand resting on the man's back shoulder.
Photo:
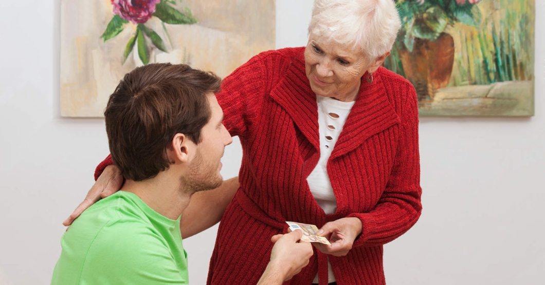
<svg viewBox="0 0 545 285">
<path fill-rule="evenodd" d="M 113 164 L 106 166 L 99 178 L 96 179 L 93 187 L 91 187 L 87 193 L 87 196 L 83 202 L 81 202 L 80 206 L 77 206 L 77 208 L 74 210 L 74 213 L 70 214 L 68 219 L 63 222 L 63 225 L 70 226 L 85 209 L 89 208 L 96 201 L 116 193 L 119 189 L 121 189 L 122 185 L 123 176 L 121 175 L 119 168 Z"/>
</svg>

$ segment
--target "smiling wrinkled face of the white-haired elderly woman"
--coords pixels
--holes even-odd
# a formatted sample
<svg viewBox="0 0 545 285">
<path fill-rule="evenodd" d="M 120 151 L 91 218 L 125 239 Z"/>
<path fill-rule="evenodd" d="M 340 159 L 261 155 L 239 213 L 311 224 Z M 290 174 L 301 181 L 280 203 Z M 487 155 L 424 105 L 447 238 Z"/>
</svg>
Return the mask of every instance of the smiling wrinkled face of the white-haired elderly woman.
<svg viewBox="0 0 545 285">
<path fill-rule="evenodd" d="M 370 66 L 364 52 L 320 36 L 308 37 L 305 71 L 312 91 L 340 101 L 355 101 L 361 77 Z"/>
</svg>

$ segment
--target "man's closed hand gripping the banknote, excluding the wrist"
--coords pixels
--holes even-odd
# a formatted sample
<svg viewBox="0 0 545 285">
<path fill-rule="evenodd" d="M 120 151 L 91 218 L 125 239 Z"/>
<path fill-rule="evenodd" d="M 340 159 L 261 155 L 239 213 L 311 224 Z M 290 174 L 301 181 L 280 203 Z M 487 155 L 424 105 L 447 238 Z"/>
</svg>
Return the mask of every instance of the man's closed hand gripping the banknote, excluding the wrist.
<svg viewBox="0 0 545 285">
<path fill-rule="evenodd" d="M 297 230 L 271 238 L 275 245 L 272 247 L 270 264 L 284 271 L 284 281 L 301 272 L 314 253 L 310 243 L 299 242 L 302 236 L 302 232 Z"/>
</svg>

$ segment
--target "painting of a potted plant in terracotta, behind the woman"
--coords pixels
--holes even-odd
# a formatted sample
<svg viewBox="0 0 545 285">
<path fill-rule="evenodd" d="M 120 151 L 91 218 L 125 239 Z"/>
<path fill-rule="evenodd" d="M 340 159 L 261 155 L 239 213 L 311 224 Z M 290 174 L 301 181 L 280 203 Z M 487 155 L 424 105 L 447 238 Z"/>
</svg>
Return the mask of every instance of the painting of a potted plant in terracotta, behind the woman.
<svg viewBox="0 0 545 285">
<path fill-rule="evenodd" d="M 421 116 L 534 115 L 534 0 L 396 0 L 385 66 L 415 86 Z"/>
</svg>

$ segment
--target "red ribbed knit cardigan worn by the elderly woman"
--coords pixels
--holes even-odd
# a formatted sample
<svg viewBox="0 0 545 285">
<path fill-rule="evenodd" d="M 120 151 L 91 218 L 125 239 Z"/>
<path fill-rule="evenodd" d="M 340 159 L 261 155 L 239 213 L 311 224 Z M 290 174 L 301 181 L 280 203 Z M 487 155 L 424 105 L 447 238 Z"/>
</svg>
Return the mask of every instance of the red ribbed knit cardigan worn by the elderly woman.
<svg viewBox="0 0 545 285">
<path fill-rule="evenodd" d="M 217 233 L 209 285 L 256 284 L 269 262 L 270 237 L 286 231 L 285 221 L 321 227 L 344 217 L 359 218 L 363 228 L 348 255 L 328 256 L 337 284 L 385 284 L 383 244 L 420 216 L 416 93 L 383 67 L 371 84 L 362 80 L 328 160 L 337 210 L 326 215 L 317 205 L 306 178 L 320 157 L 318 111 L 303 54 L 301 47 L 256 55 L 225 78 L 217 95 L 243 158 L 240 188 Z M 326 283 L 327 259 L 316 252 L 286 284 L 311 284 L 318 268 L 320 284 Z"/>
</svg>

